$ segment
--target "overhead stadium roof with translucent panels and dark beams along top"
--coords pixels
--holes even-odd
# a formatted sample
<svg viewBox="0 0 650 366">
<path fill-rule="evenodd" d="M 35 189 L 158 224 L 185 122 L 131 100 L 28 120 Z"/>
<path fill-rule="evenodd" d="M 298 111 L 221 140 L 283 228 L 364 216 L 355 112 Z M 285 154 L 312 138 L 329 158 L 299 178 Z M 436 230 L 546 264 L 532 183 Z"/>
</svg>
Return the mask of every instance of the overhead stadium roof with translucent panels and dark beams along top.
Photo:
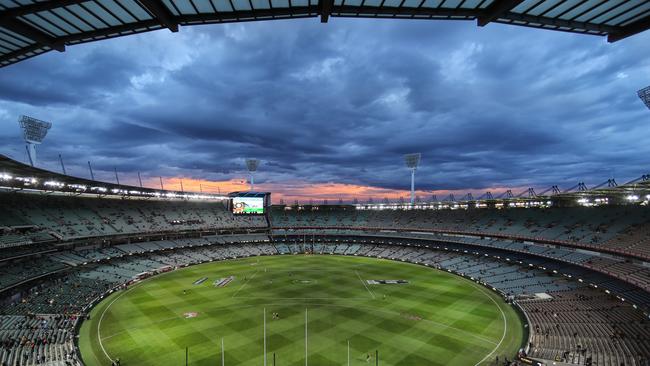
<svg viewBox="0 0 650 366">
<path fill-rule="evenodd" d="M 647 0 L 2 0 L 0 67 L 78 43 L 179 26 L 288 18 L 476 20 L 607 36 L 650 27 Z"/>
</svg>

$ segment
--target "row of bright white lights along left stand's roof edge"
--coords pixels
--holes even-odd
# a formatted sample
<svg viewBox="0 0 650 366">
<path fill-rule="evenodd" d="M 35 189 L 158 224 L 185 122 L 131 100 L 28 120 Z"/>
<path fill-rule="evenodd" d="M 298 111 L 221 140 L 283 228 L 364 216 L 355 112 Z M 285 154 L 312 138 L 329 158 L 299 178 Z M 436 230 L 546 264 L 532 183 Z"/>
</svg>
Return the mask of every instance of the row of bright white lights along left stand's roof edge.
<svg viewBox="0 0 650 366">
<path fill-rule="evenodd" d="M 96 182 L 99 183 L 99 182 Z M 183 199 L 183 200 L 225 200 L 226 196 L 211 194 L 196 194 L 173 191 L 145 191 L 131 189 L 132 187 L 107 188 L 101 185 L 87 186 L 77 183 L 65 183 L 56 180 L 39 181 L 34 177 L 20 177 L 9 173 L 0 173 L 0 188 L 43 190 L 48 192 L 80 193 L 128 196 L 133 198 L 161 198 L 161 199 Z"/>
</svg>

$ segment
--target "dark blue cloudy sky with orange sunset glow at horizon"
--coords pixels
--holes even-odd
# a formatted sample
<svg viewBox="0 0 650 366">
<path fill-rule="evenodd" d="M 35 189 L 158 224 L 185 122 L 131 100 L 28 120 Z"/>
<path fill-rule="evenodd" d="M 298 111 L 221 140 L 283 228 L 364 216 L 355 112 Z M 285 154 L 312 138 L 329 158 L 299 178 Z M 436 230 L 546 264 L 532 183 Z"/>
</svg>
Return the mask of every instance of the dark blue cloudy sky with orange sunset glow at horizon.
<svg viewBox="0 0 650 366">
<path fill-rule="evenodd" d="M 184 27 L 0 69 L 1 154 L 53 122 L 39 165 L 276 198 L 422 196 L 619 183 L 648 172 L 650 32 L 604 38 L 474 22 L 331 19 Z M 495 194 L 496 195 L 496 194 Z"/>
</svg>

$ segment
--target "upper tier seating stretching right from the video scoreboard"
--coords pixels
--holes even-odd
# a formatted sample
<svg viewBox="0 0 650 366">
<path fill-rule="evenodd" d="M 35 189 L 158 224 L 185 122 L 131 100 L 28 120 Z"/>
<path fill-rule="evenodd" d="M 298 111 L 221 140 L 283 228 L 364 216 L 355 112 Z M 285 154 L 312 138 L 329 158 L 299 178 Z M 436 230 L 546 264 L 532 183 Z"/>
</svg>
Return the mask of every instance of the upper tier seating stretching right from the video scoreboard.
<svg viewBox="0 0 650 366">
<path fill-rule="evenodd" d="M 650 259 L 650 208 L 600 206 L 457 210 L 272 211 L 274 227 L 415 229 L 575 243 Z"/>
</svg>

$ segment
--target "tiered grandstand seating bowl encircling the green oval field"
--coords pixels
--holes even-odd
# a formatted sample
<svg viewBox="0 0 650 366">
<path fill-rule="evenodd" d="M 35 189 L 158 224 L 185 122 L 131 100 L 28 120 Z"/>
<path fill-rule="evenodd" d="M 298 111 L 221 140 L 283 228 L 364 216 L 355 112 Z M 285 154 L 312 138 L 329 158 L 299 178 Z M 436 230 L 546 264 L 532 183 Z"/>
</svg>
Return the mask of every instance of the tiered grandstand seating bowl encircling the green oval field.
<svg viewBox="0 0 650 366">
<path fill-rule="evenodd" d="M 0 193 L 3 365 L 80 365 L 75 335 L 83 320 L 104 296 L 142 278 L 297 253 L 410 262 L 487 286 L 525 317 L 529 334 L 519 355 L 525 360 L 612 366 L 650 360 L 646 205 L 279 205 L 266 215 L 241 216 L 222 197 L 129 194 L 135 189 L 126 186 L 71 192 L 65 187 L 78 185 L 76 178 L 6 158 L 3 164 L 5 177 L 39 177 L 29 189 L 5 179 Z M 63 188 L 41 189 L 45 180 Z"/>
</svg>

